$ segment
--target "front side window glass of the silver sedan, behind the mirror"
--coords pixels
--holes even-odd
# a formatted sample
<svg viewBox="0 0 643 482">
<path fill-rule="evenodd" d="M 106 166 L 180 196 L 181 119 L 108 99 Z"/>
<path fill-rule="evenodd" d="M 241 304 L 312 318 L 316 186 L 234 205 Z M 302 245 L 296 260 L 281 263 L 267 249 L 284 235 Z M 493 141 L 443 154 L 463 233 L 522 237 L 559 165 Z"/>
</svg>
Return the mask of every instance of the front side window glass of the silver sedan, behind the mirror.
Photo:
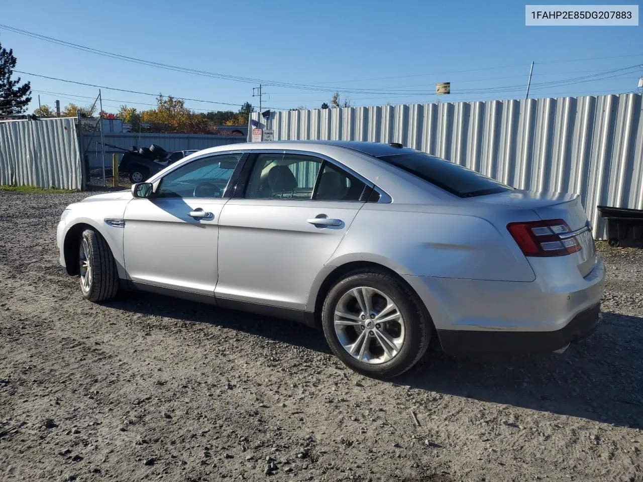
<svg viewBox="0 0 643 482">
<path fill-rule="evenodd" d="M 242 152 L 199 157 L 168 172 L 156 190 L 161 198 L 222 197 Z"/>
</svg>

